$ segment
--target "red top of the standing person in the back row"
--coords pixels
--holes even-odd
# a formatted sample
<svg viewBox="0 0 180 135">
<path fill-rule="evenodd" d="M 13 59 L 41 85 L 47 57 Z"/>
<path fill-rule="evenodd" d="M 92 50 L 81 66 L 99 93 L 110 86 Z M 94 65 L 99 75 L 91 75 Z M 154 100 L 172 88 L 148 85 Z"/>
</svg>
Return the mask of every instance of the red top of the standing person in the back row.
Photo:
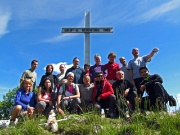
<svg viewBox="0 0 180 135">
<path fill-rule="evenodd" d="M 107 80 L 117 80 L 116 78 L 116 72 L 120 70 L 120 66 L 118 63 L 110 63 L 108 62 L 105 64 L 108 74 L 107 74 Z"/>
</svg>

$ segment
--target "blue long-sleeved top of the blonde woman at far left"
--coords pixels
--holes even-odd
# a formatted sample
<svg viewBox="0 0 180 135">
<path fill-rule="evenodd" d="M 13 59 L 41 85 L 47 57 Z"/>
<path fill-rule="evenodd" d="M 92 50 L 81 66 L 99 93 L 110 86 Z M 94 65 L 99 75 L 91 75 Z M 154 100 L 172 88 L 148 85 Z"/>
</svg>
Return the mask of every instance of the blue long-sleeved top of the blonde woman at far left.
<svg viewBox="0 0 180 135">
<path fill-rule="evenodd" d="M 28 92 L 26 94 L 25 90 L 18 89 L 18 91 L 16 92 L 15 105 L 21 105 L 23 110 L 26 110 L 28 105 L 30 107 L 34 107 L 35 106 L 34 92 Z"/>
</svg>

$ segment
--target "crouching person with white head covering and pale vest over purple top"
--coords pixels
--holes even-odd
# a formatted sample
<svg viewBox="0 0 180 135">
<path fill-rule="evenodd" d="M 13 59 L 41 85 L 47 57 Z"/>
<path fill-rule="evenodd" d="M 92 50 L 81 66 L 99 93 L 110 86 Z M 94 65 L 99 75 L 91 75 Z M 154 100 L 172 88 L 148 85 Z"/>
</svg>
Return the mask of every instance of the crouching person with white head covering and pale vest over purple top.
<svg viewBox="0 0 180 135">
<path fill-rule="evenodd" d="M 79 113 L 80 92 L 77 84 L 73 83 L 74 73 L 67 73 L 67 82 L 60 87 L 57 98 L 57 110 L 60 114 L 64 114 L 64 110 L 68 109 L 70 113 Z M 63 115 L 65 116 L 65 115 Z"/>
</svg>

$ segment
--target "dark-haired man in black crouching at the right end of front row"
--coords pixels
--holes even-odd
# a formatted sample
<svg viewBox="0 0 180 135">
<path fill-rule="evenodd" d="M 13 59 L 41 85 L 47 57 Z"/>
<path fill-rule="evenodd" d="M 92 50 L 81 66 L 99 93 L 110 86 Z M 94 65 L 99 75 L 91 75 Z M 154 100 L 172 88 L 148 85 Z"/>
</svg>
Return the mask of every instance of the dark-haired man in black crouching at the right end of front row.
<svg viewBox="0 0 180 135">
<path fill-rule="evenodd" d="M 176 106 L 176 100 L 164 89 L 163 80 L 158 74 L 150 75 L 147 67 L 141 67 L 139 73 L 143 77 L 140 89 L 148 94 L 146 98 L 149 101 L 148 110 L 166 110 L 168 101 L 170 106 Z M 141 108 L 144 109 L 145 101 L 142 100 L 141 102 Z"/>
</svg>

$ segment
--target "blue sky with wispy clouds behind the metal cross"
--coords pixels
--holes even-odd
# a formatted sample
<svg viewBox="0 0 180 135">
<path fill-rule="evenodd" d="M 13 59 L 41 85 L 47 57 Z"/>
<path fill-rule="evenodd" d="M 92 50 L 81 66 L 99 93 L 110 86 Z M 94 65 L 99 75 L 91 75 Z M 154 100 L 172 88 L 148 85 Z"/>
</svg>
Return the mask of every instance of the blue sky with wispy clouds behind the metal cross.
<svg viewBox="0 0 180 135">
<path fill-rule="evenodd" d="M 44 67 L 53 63 L 83 63 L 84 34 L 61 34 L 62 27 L 84 27 L 85 11 L 90 11 L 92 27 L 113 27 L 113 34 L 91 34 L 93 55 L 107 63 L 109 52 L 132 59 L 131 50 L 146 55 L 160 50 L 148 64 L 152 74 L 164 79 L 172 95 L 180 97 L 180 0 L 0 0 L 0 90 L 1 94 L 19 84 L 19 78 L 39 61 L 38 83 Z M 54 72 L 57 74 L 57 72 Z M 2 95 L 0 96 L 2 99 Z"/>
</svg>

